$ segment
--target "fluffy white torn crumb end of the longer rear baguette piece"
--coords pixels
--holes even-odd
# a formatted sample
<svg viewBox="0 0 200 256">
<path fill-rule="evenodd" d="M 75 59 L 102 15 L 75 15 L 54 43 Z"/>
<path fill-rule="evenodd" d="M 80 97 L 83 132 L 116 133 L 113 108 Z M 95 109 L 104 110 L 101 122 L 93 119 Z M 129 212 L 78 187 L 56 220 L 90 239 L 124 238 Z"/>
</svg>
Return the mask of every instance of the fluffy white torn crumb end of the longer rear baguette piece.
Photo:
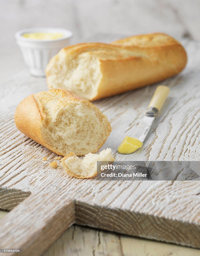
<svg viewBox="0 0 200 256">
<path fill-rule="evenodd" d="M 56 67 L 50 70 L 49 87 L 67 89 L 85 99 L 93 98 L 101 79 L 97 58 L 87 56 L 87 53 L 72 60 L 64 56 L 58 55 L 57 62 L 54 63 Z"/>
</svg>

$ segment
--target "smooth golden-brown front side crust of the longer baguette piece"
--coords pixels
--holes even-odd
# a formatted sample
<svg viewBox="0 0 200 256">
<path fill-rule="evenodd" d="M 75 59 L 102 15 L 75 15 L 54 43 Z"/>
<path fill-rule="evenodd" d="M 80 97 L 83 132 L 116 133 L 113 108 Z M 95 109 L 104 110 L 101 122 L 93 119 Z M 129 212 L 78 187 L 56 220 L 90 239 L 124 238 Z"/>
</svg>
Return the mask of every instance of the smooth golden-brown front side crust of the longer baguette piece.
<svg viewBox="0 0 200 256">
<path fill-rule="evenodd" d="M 162 48 L 163 46 L 152 50 L 155 59 L 129 57 L 121 60 L 100 60 L 100 69 L 103 76 L 98 86 L 97 95 L 91 100 L 144 87 L 181 72 L 187 62 L 183 47 L 174 45 L 165 46 L 164 50 Z M 166 48 L 170 48 L 170 50 L 168 51 Z M 167 67 L 169 62 L 171 65 Z"/>
</svg>

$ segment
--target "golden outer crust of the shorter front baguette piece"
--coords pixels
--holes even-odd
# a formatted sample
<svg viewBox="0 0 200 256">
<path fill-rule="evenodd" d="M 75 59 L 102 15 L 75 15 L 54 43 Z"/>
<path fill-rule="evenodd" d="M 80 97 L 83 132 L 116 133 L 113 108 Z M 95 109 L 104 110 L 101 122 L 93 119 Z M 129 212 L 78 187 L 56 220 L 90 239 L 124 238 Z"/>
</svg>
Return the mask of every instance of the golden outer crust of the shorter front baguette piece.
<svg viewBox="0 0 200 256">
<path fill-rule="evenodd" d="M 98 110 L 98 108 L 96 106 L 94 106 L 91 102 L 87 101 L 86 99 L 84 99 L 80 96 L 77 96 L 76 94 L 74 94 L 73 92 L 70 92 L 68 90 L 51 89 L 49 91 L 57 93 L 57 94 L 59 93 L 59 94 L 61 94 L 61 97 L 63 97 L 63 98 L 67 97 L 69 101 L 79 101 L 79 102 L 83 101 L 87 106 L 94 109 L 94 111 Z M 19 105 L 17 106 L 16 111 L 15 111 L 15 116 L 14 116 L 15 124 L 19 131 L 24 133 L 26 136 L 28 136 L 32 140 L 45 146 L 52 152 L 54 152 L 58 155 L 64 156 L 63 154 L 61 154 L 61 152 L 58 151 L 58 149 L 50 147 L 45 142 L 45 140 L 41 134 L 41 122 L 45 118 L 45 113 L 43 111 L 43 106 L 41 105 L 41 103 L 39 101 L 37 101 L 38 103 L 36 103 L 34 95 L 35 94 L 29 95 L 27 98 L 22 100 L 19 103 Z M 104 115 L 101 113 L 100 110 L 98 111 L 98 113 L 101 118 L 104 118 Z M 111 125 L 109 122 L 108 122 L 108 124 L 109 125 L 106 127 L 105 132 L 107 132 L 107 135 L 109 136 L 112 129 L 111 129 Z M 99 145 L 97 150 L 100 147 L 102 147 L 102 145 L 105 143 L 106 139 L 104 141 L 102 141 L 102 143 Z M 91 152 L 91 153 L 96 153 L 97 150 L 94 152 Z"/>
</svg>

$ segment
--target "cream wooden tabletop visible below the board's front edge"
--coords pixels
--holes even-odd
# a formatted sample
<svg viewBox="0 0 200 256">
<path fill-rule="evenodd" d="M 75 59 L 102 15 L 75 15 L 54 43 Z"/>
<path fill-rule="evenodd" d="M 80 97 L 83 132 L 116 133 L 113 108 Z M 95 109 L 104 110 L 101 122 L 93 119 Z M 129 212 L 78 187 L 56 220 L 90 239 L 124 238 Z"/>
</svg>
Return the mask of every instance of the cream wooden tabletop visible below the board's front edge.
<svg viewBox="0 0 200 256">
<path fill-rule="evenodd" d="M 0 209 L 0 219 L 8 212 Z M 200 250 L 72 225 L 43 256 L 199 256 Z"/>
</svg>

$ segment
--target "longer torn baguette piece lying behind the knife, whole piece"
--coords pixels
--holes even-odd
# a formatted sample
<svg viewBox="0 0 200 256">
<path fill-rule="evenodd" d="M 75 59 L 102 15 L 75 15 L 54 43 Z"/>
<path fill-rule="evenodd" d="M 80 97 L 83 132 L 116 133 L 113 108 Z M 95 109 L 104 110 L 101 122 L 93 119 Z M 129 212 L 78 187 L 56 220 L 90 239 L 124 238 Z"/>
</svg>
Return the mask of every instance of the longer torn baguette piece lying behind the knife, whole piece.
<svg viewBox="0 0 200 256">
<path fill-rule="evenodd" d="M 155 33 L 63 48 L 48 63 L 46 77 L 49 88 L 68 89 L 91 101 L 174 76 L 186 62 L 178 41 Z"/>
</svg>

